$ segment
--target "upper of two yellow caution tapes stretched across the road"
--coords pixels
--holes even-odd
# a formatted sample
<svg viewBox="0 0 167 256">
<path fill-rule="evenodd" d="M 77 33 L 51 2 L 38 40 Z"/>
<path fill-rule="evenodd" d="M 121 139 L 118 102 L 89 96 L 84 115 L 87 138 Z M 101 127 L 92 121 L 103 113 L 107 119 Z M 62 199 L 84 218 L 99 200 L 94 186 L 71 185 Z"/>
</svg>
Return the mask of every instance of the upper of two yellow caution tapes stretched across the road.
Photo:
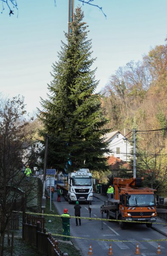
<svg viewBox="0 0 167 256">
<path fill-rule="evenodd" d="M 13 211 L 17 212 L 17 211 Z M 22 213 L 22 212 L 21 212 Z M 62 217 L 62 215 L 58 214 L 47 214 L 47 213 L 37 213 L 37 212 L 25 212 L 26 214 L 34 214 L 34 215 L 42 215 L 42 216 L 53 216 L 53 217 Z M 163 224 L 167 225 L 167 223 L 161 222 L 149 222 L 149 221 L 123 221 L 123 220 L 113 220 L 113 219 L 105 219 L 105 218 L 89 218 L 89 217 L 76 217 L 76 216 L 65 216 L 66 218 L 80 218 L 80 219 L 87 219 L 87 220 L 95 220 L 95 221 L 122 221 L 122 222 L 130 222 L 130 223 L 152 223 L 152 224 Z"/>
</svg>

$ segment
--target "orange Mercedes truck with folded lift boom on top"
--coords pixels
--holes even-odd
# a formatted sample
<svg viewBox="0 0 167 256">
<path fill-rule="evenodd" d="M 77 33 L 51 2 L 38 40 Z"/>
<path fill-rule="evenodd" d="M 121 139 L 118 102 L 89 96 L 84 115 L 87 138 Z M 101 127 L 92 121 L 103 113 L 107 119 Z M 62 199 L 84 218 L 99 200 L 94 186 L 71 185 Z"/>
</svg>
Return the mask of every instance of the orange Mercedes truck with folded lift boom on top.
<svg viewBox="0 0 167 256">
<path fill-rule="evenodd" d="M 156 221 L 156 189 L 138 187 L 142 180 L 143 177 L 113 178 L 114 198 L 108 199 L 101 206 L 102 214 L 106 212 L 108 219 L 120 220 L 122 229 L 126 226 L 125 221 L 135 221 L 146 224 L 147 227 L 152 227 L 152 223 Z"/>
</svg>

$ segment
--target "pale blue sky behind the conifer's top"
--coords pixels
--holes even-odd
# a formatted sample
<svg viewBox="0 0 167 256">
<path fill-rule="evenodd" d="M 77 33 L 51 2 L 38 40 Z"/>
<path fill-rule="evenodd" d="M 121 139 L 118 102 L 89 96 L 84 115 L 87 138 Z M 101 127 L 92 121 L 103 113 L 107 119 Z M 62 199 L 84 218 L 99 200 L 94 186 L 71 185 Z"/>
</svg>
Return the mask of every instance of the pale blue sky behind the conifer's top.
<svg viewBox="0 0 167 256">
<path fill-rule="evenodd" d="M 0 93 L 25 97 L 26 110 L 37 112 L 52 80 L 52 63 L 58 60 L 63 31 L 68 31 L 68 0 L 17 0 L 19 15 L 0 14 Z M 94 0 L 84 5 L 84 21 L 92 38 L 92 68 L 97 67 L 96 91 L 127 62 L 142 60 L 150 47 L 167 37 L 167 0 Z M 82 5 L 75 0 L 75 6 Z M 0 5 L 0 9 L 2 6 Z M 15 12 L 16 13 L 16 12 Z"/>
</svg>

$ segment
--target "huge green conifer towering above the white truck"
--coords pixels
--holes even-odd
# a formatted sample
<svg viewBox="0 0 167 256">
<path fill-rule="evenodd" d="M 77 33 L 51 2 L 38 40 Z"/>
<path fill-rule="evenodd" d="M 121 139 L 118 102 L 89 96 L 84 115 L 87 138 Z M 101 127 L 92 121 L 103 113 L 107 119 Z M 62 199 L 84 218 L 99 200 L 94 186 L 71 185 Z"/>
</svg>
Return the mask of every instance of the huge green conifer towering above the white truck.
<svg viewBox="0 0 167 256">
<path fill-rule="evenodd" d="M 106 167 L 104 153 L 108 144 L 103 126 L 107 119 L 102 115 L 100 95 L 94 93 L 98 81 L 91 65 L 91 40 L 88 26 L 82 21 L 81 8 L 76 8 L 71 33 L 65 33 L 67 44 L 62 42 L 59 61 L 53 64 L 53 81 L 48 85 L 48 100 L 41 99 L 44 111 L 40 119 L 50 136 L 48 166 L 68 172 L 77 168 L 102 170 Z"/>
</svg>

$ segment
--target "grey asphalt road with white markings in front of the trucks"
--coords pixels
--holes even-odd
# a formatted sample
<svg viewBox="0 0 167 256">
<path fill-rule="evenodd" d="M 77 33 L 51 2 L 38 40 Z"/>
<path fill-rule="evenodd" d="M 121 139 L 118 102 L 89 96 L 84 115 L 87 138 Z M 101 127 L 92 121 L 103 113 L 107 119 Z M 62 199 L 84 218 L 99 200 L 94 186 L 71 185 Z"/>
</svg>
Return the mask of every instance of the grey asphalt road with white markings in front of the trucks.
<svg viewBox="0 0 167 256">
<path fill-rule="evenodd" d="M 93 197 L 92 205 L 99 205 L 99 209 L 92 209 L 92 217 L 101 218 L 100 206 L 103 203 L 103 201 Z M 74 216 L 74 204 L 68 204 L 63 197 L 61 203 L 56 202 L 55 205 L 60 214 L 62 214 L 64 208 L 67 208 L 68 213 Z M 89 217 L 88 204 L 81 203 L 80 205 L 82 207 L 81 216 Z M 104 214 L 104 218 L 106 218 L 106 214 Z M 73 241 L 81 251 L 82 256 L 88 255 L 90 244 L 92 244 L 92 252 L 95 256 L 108 255 L 110 244 L 114 256 L 134 256 L 138 241 L 141 241 L 139 242 L 139 251 L 142 256 L 156 256 L 158 242 L 146 240 L 167 239 L 155 230 L 147 228 L 146 225 L 129 224 L 125 230 L 122 230 L 117 222 L 104 221 L 103 229 L 102 221 L 98 220 L 81 219 L 81 226 L 76 227 L 75 219 L 71 218 L 70 223 L 70 234 L 78 237 Z M 85 239 L 79 239 L 79 237 Z M 91 239 L 114 239 L 119 240 L 119 242 Z M 161 241 L 160 247 L 162 255 L 167 255 L 167 241 Z"/>
</svg>

